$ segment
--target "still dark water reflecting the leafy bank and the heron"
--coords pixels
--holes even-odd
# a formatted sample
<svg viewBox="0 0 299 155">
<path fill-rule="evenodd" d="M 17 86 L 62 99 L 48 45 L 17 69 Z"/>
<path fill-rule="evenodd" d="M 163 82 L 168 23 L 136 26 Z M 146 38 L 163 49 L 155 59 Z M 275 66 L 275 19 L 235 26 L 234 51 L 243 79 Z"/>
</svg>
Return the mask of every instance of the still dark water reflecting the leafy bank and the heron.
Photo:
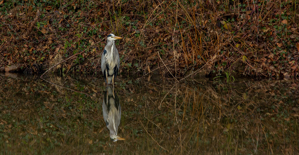
<svg viewBox="0 0 299 155">
<path fill-rule="evenodd" d="M 298 89 L 118 78 L 113 94 L 103 78 L 0 74 L 0 154 L 298 154 Z"/>
</svg>

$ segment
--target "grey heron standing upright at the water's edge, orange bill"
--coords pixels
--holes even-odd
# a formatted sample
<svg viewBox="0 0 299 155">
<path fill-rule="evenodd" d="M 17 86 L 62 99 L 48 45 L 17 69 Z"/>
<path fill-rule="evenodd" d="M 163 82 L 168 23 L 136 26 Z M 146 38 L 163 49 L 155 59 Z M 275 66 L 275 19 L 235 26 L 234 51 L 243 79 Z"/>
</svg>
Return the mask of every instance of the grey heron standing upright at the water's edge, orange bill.
<svg viewBox="0 0 299 155">
<path fill-rule="evenodd" d="M 114 90 L 114 78 L 117 76 L 119 70 L 119 54 L 115 47 L 115 40 L 122 39 L 121 37 L 115 36 L 114 34 L 109 34 L 107 36 L 106 46 L 104 48 L 102 58 L 101 58 L 101 68 L 103 76 L 107 83 L 113 85 Z"/>
</svg>

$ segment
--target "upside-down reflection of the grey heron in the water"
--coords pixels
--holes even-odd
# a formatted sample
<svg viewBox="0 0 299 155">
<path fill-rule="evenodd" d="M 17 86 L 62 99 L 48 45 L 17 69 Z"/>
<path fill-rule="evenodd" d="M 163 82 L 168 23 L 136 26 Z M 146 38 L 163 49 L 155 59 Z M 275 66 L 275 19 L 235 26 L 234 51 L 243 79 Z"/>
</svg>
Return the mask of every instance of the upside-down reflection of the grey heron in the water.
<svg viewBox="0 0 299 155">
<path fill-rule="evenodd" d="M 125 140 L 117 135 L 118 126 L 120 124 L 121 108 L 119 99 L 110 86 L 107 87 L 106 92 L 104 93 L 102 107 L 103 117 L 106 122 L 106 126 L 110 131 L 110 139 L 113 140 L 113 142 Z"/>
</svg>

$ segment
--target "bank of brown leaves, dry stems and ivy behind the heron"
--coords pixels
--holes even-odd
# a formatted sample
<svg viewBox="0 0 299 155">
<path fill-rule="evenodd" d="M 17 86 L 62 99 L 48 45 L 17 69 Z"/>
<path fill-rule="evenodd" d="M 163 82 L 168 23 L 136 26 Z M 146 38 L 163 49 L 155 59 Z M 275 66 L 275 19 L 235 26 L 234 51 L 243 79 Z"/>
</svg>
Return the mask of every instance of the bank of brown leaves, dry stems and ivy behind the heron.
<svg viewBox="0 0 299 155">
<path fill-rule="evenodd" d="M 57 69 L 99 73 L 105 37 L 114 33 L 124 38 L 117 48 L 127 75 L 298 77 L 298 1 L 0 3 L 2 70 L 48 67 L 86 49 Z"/>
</svg>

